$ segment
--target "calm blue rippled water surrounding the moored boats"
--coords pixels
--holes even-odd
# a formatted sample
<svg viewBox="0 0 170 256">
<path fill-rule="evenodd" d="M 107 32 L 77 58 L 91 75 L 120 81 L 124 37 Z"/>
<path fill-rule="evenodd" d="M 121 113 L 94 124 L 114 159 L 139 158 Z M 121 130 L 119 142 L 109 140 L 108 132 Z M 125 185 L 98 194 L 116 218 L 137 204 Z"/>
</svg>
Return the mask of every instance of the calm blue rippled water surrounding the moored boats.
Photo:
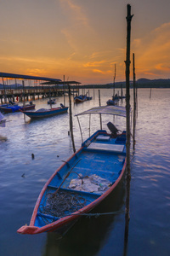
<svg viewBox="0 0 170 256">
<path fill-rule="evenodd" d="M 72 104 L 79 113 L 99 106 L 99 90 L 90 90 L 94 100 Z M 131 91 L 133 96 L 133 91 Z M 112 90 L 100 90 L 101 104 Z M 139 90 L 136 148 L 132 151 L 130 222 L 127 255 L 170 255 L 170 90 Z M 57 99 L 59 105 L 63 97 Z M 68 98 L 65 98 L 68 105 Z M 36 108 L 47 108 L 47 99 L 37 100 Z M 133 99 L 131 100 L 133 106 Z M 122 102 L 125 105 L 125 102 Z M 123 213 L 99 218 L 81 218 L 62 239 L 55 234 L 19 235 L 16 230 L 29 224 L 33 207 L 48 177 L 72 154 L 69 114 L 30 121 L 22 113 L 5 115 L 9 121 L 0 127 L 0 255 L 2 256 L 91 256 L 123 255 L 125 217 Z M 125 129 L 125 119 L 106 116 Z M 81 117 L 83 138 L 88 137 L 87 117 Z M 77 118 L 73 118 L 76 148 L 81 145 Z M 93 117 L 91 132 L 99 127 Z M 31 160 L 31 154 L 35 159 Z M 96 212 L 123 211 L 125 183 L 101 204 Z"/>
</svg>

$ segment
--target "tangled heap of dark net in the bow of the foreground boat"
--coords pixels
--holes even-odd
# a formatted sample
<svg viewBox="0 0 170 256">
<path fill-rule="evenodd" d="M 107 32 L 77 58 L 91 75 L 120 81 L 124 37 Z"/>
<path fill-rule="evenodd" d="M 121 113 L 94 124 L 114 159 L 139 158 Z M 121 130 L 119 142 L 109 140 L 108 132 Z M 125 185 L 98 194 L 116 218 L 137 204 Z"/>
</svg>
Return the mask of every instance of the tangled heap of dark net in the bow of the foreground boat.
<svg viewBox="0 0 170 256">
<path fill-rule="evenodd" d="M 82 196 L 67 191 L 58 191 L 56 195 L 54 193 L 46 195 L 44 202 L 40 206 L 40 212 L 62 218 L 72 212 L 77 212 L 85 205 L 86 199 Z"/>
</svg>

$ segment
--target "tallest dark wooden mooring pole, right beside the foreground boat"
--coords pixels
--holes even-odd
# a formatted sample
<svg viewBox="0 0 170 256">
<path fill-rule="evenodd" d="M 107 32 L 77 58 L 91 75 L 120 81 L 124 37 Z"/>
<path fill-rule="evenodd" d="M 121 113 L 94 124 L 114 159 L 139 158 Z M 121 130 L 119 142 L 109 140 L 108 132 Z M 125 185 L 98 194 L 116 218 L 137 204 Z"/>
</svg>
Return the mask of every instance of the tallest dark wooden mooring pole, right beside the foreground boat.
<svg viewBox="0 0 170 256">
<path fill-rule="evenodd" d="M 126 55 L 126 113 L 127 113 L 127 186 L 126 186 L 126 209 L 125 209 L 125 248 L 127 248 L 128 223 L 129 223 L 129 197 L 130 197 L 130 35 L 131 35 L 131 6 L 127 4 L 127 55 Z M 126 250 L 125 250 L 126 251 Z"/>
</svg>

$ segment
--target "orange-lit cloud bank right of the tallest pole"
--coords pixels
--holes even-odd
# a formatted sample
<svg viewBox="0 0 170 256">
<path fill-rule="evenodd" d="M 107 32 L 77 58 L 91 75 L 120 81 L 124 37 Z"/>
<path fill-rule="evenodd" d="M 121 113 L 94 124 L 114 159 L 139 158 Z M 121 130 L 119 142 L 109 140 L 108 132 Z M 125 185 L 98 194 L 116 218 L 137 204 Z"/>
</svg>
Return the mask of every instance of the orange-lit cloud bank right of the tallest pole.
<svg viewBox="0 0 170 256">
<path fill-rule="evenodd" d="M 170 23 L 162 24 L 144 38 L 136 38 L 132 48 L 139 76 L 169 77 Z"/>
</svg>

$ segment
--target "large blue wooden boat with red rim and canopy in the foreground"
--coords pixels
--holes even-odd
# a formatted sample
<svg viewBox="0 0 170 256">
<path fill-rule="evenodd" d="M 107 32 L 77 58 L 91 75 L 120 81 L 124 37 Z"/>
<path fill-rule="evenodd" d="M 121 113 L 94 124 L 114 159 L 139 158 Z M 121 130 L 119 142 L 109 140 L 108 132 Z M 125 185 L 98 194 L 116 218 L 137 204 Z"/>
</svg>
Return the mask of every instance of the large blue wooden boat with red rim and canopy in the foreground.
<svg viewBox="0 0 170 256">
<path fill-rule="evenodd" d="M 126 115 L 124 108 L 92 108 L 82 114 Z M 111 125 L 111 124 L 110 124 Z M 109 127 L 109 126 L 108 126 Z M 114 128 L 114 125 L 113 125 Z M 59 232 L 91 211 L 116 189 L 126 167 L 126 131 L 96 131 L 44 185 L 29 225 L 20 234 Z"/>
</svg>

